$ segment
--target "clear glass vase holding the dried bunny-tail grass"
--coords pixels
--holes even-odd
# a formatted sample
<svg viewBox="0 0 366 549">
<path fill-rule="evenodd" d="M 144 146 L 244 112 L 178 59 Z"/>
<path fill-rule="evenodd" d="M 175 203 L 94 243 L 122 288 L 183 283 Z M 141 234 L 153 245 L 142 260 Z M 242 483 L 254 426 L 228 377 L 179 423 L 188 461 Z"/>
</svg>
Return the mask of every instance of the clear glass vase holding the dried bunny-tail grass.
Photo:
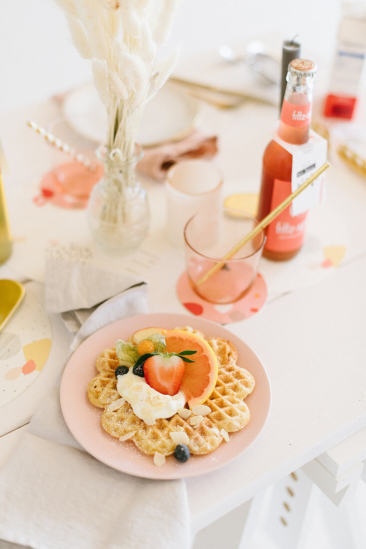
<svg viewBox="0 0 366 549">
<path fill-rule="evenodd" d="M 99 149 L 104 176 L 93 188 L 87 215 L 92 236 L 107 253 L 132 251 L 147 236 L 148 200 L 136 177 L 136 166 L 142 154 L 139 149 L 132 158 L 125 160 L 120 150 Z"/>
</svg>

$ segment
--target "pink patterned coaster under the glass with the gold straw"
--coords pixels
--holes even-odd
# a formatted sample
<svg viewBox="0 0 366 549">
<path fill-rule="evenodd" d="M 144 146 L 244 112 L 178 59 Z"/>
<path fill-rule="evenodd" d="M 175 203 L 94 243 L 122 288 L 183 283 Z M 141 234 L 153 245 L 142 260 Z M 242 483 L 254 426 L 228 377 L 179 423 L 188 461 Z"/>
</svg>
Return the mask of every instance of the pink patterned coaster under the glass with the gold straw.
<svg viewBox="0 0 366 549">
<path fill-rule="evenodd" d="M 258 273 L 254 284 L 244 298 L 234 303 L 215 304 L 205 301 L 193 291 L 187 273 L 184 271 L 178 279 L 177 294 L 182 305 L 193 315 L 219 324 L 229 324 L 244 320 L 259 311 L 267 299 L 267 286 L 262 275 Z"/>
</svg>

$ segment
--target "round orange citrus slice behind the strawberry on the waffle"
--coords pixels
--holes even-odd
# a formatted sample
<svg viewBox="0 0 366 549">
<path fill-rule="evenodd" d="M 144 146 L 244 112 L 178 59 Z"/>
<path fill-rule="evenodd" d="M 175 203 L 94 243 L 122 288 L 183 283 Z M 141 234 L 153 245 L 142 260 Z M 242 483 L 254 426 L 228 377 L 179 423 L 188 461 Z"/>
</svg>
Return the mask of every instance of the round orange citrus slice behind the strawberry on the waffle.
<svg viewBox="0 0 366 549">
<path fill-rule="evenodd" d="M 187 358 L 194 362 L 184 362 L 181 389 L 188 406 L 203 404 L 215 388 L 218 374 L 217 358 L 210 345 L 199 335 L 183 330 L 167 330 L 165 335 L 168 352 L 197 351 Z"/>
</svg>

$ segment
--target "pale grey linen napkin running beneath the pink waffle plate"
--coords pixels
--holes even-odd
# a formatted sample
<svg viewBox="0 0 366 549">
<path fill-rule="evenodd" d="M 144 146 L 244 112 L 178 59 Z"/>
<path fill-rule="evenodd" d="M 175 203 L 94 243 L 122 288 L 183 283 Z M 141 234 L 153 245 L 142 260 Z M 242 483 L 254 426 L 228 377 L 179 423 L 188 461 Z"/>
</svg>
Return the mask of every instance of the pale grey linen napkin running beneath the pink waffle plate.
<svg viewBox="0 0 366 549">
<path fill-rule="evenodd" d="M 71 348 L 109 322 L 147 311 L 147 284 L 97 307 Z M 164 467 L 164 466 L 163 466 Z M 50 391 L 0 472 L 0 539 L 37 549 L 184 549 L 190 545 L 183 480 L 117 472 L 83 451 Z"/>
</svg>

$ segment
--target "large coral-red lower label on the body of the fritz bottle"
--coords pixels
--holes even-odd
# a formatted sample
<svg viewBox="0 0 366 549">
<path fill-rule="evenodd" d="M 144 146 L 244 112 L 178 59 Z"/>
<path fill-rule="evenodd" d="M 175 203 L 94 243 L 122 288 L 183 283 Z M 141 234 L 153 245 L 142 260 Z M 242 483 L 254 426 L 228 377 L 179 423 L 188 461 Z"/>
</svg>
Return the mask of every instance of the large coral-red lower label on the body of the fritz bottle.
<svg viewBox="0 0 366 549">
<path fill-rule="evenodd" d="M 273 182 L 271 211 L 291 194 L 291 181 Z M 301 247 L 305 234 L 307 212 L 292 217 L 290 206 L 283 210 L 267 228 L 266 250 L 294 251 Z"/>
</svg>

